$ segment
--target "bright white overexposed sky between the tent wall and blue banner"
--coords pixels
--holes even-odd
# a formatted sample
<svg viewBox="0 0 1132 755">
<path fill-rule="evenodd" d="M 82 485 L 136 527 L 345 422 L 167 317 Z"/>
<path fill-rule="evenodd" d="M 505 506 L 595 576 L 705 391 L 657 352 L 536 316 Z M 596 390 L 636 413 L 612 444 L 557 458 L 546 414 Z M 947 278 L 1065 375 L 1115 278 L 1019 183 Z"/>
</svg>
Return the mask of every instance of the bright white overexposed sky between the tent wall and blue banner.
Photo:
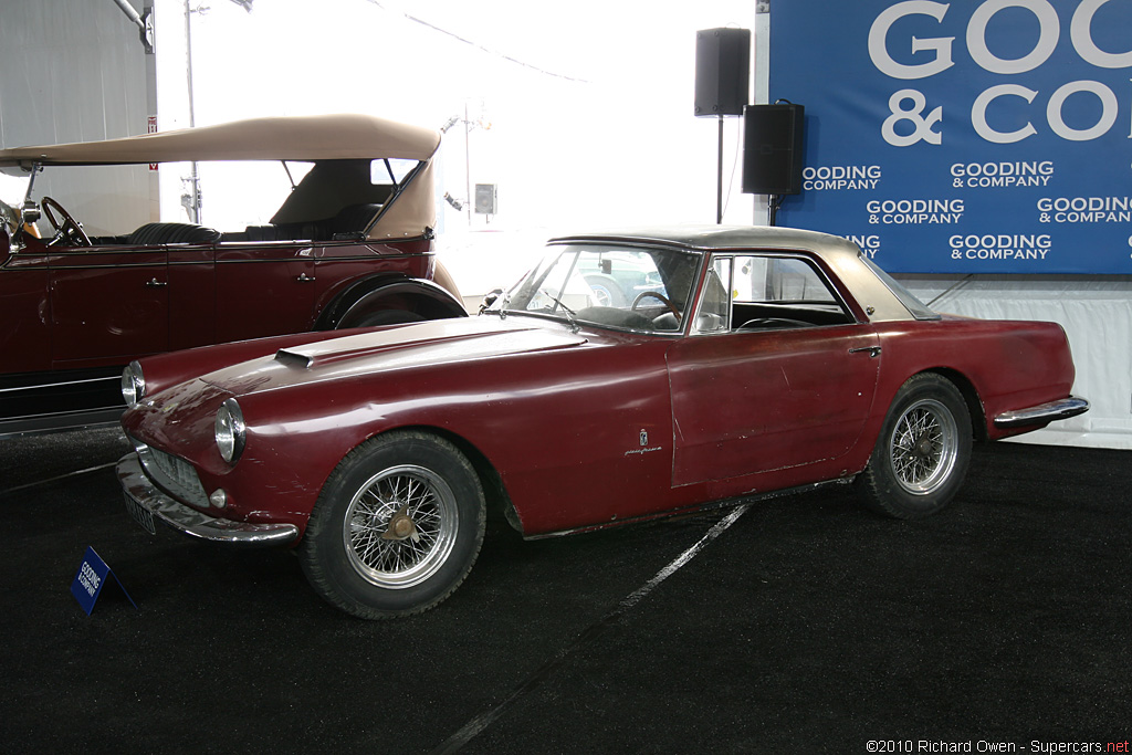
<svg viewBox="0 0 1132 755">
<path fill-rule="evenodd" d="M 486 230 L 525 244 L 563 231 L 714 222 L 717 123 L 693 115 L 695 32 L 753 28 L 754 0 L 255 0 L 251 12 L 207 5 L 192 15 L 198 126 L 365 112 L 440 128 L 469 109 L 471 183 L 498 185 L 499 214 L 490 225 L 473 216 L 470 229 L 465 213 L 446 209 L 441 249 L 479 244 Z M 182 0 L 158 0 L 158 33 L 183 9 Z M 158 37 L 162 130 L 188 125 L 183 57 L 171 42 Z M 730 119 L 729 164 L 738 134 Z M 440 165 L 441 192 L 465 198 L 462 125 L 445 136 Z M 217 212 L 247 201 L 246 186 L 224 183 L 206 177 L 203 187 L 205 220 L 217 226 Z M 751 206 L 731 195 L 738 222 L 751 221 Z M 462 288 L 482 288 L 468 280 L 482 264 L 461 271 L 452 258 Z"/>
</svg>

